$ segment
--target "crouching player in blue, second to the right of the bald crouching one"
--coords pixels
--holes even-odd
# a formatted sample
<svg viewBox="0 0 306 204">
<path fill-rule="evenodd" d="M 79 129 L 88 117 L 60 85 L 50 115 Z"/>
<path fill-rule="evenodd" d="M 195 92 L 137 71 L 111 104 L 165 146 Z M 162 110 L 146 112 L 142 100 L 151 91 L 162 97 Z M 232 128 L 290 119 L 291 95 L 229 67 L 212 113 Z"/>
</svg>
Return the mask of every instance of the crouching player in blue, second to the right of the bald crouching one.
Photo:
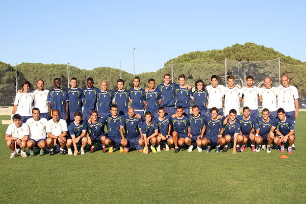
<svg viewBox="0 0 306 204">
<path fill-rule="evenodd" d="M 158 136 L 157 136 L 157 151 L 161 151 L 161 142 L 167 141 L 165 143 L 166 151 L 169 151 L 170 145 L 173 145 L 173 138 L 170 135 L 171 133 L 171 118 L 169 115 L 166 115 L 164 107 L 158 108 L 158 115 L 159 117 L 156 118 L 158 124 Z"/>
</svg>

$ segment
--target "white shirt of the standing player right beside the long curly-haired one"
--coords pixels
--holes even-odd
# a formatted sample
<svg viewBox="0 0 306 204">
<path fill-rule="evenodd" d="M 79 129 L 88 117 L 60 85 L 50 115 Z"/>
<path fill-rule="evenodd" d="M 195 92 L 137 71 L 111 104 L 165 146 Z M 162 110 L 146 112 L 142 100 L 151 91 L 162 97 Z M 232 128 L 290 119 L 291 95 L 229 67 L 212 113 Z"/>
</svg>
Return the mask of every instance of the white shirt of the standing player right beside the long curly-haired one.
<svg viewBox="0 0 306 204">
<path fill-rule="evenodd" d="M 223 85 L 218 85 L 217 87 L 213 87 L 209 85 L 206 87 L 208 91 L 208 108 L 211 109 L 216 107 L 217 109 L 222 108 L 222 97 L 224 91 Z"/>
</svg>

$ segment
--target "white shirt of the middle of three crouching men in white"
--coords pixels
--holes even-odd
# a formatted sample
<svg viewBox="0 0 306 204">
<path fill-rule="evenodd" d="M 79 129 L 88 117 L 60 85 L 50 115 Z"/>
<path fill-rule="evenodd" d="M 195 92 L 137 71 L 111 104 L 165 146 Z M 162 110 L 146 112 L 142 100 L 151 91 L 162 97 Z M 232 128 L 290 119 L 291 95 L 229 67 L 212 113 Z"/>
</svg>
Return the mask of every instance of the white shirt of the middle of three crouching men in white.
<svg viewBox="0 0 306 204">
<path fill-rule="evenodd" d="M 30 129 L 30 135 L 29 139 L 33 140 L 40 140 L 40 139 L 46 139 L 46 124 L 47 119 L 40 118 L 38 121 L 34 120 L 34 118 L 29 118 L 27 120 L 27 123 L 29 125 Z"/>
</svg>

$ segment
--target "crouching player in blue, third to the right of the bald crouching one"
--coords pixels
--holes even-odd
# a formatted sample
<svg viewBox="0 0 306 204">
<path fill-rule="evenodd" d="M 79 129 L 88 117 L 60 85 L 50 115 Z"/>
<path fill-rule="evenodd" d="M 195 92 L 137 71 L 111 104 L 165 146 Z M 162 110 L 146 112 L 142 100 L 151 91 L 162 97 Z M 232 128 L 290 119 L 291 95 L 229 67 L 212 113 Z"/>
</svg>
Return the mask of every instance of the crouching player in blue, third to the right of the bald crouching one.
<svg viewBox="0 0 306 204">
<path fill-rule="evenodd" d="M 189 118 L 186 115 L 183 115 L 184 109 L 182 106 L 176 107 L 176 115 L 175 117 L 171 117 L 171 123 L 173 126 L 173 142 L 174 142 L 174 153 L 177 153 L 180 151 L 179 147 L 177 146 L 177 143 L 179 143 L 180 146 L 182 146 L 182 150 L 186 150 L 185 147 L 185 138 L 190 137 L 190 123 Z"/>
</svg>

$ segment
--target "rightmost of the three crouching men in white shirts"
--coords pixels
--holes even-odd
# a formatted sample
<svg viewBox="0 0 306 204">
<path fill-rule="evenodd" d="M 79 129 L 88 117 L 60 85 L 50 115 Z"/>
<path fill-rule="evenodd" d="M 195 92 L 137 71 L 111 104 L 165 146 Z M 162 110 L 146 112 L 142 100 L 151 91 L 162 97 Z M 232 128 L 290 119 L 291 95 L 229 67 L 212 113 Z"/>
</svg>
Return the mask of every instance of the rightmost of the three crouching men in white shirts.
<svg viewBox="0 0 306 204">
<path fill-rule="evenodd" d="M 60 119 L 60 113 L 56 109 L 52 111 L 52 117 L 53 119 L 48 120 L 46 124 L 47 145 L 50 148 L 49 156 L 54 155 L 53 147 L 57 145 L 57 142 L 60 144 L 61 155 L 65 155 L 67 123 L 65 120 Z"/>
</svg>

